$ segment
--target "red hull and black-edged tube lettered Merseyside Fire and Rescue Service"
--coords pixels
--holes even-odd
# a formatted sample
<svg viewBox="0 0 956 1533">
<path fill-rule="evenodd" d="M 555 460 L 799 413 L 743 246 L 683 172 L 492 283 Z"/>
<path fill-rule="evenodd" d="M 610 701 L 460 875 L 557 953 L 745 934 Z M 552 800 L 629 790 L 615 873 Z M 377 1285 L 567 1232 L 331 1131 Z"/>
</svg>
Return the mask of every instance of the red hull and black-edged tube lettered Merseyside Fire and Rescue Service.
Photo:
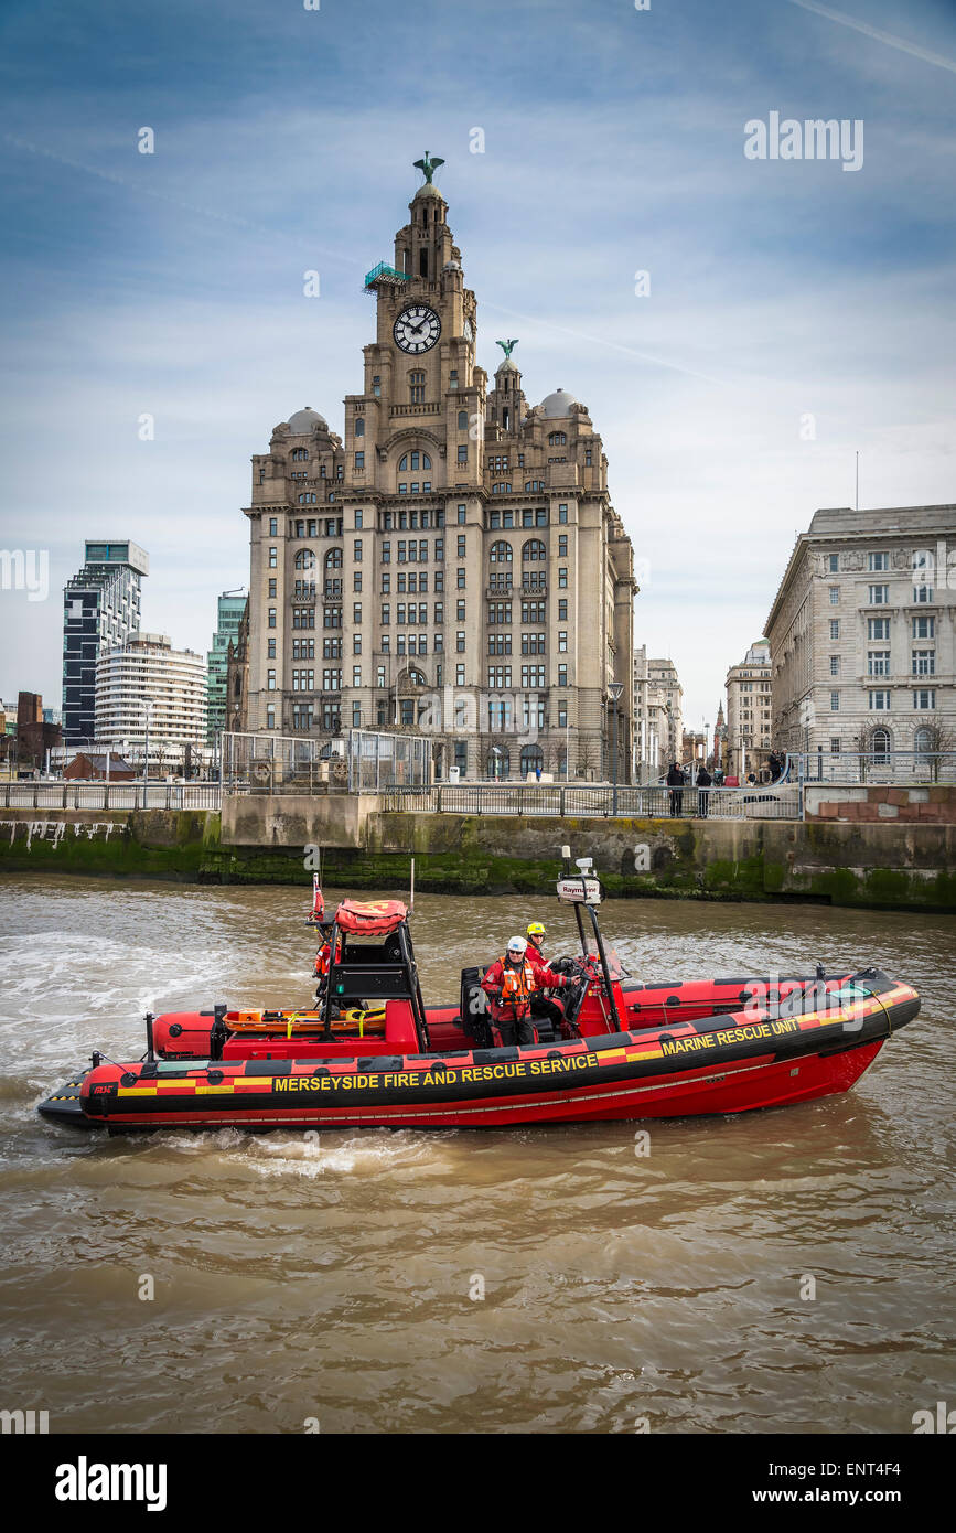
<svg viewBox="0 0 956 1533">
<path fill-rule="evenodd" d="M 841 998 L 846 995 L 846 1000 Z M 553 1046 L 100 1064 L 40 1111 L 135 1128 L 501 1128 L 780 1107 L 847 1091 L 919 996 L 878 970 L 817 1012 L 723 1013 Z"/>
</svg>

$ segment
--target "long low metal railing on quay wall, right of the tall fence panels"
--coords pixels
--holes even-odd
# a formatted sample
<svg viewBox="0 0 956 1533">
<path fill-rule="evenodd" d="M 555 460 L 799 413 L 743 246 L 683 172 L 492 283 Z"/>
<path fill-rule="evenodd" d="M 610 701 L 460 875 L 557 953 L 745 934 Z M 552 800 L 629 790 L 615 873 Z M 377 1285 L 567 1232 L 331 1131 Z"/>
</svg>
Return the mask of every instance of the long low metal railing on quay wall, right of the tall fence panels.
<svg viewBox="0 0 956 1533">
<path fill-rule="evenodd" d="M 435 783 L 432 788 L 389 786 L 388 812 L 518 814 L 556 819 L 610 819 L 614 789 L 539 783 Z M 757 788 L 617 788 L 617 819 L 800 820 L 800 789 Z"/>
</svg>

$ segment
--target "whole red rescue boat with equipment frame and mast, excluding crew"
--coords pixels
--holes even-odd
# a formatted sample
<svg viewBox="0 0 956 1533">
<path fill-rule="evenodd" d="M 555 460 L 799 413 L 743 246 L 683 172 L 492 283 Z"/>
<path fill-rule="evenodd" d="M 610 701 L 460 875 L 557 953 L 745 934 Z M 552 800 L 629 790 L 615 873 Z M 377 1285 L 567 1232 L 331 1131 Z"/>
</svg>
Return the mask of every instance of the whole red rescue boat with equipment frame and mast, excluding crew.
<svg viewBox="0 0 956 1533">
<path fill-rule="evenodd" d="M 74 1127 L 509 1127 L 778 1107 L 849 1090 L 919 996 L 879 969 L 640 984 L 598 923 L 585 863 L 558 883 L 581 952 L 558 1023 L 503 1047 L 466 969 L 457 1003 L 426 1007 L 394 900 L 345 900 L 328 934 L 320 1004 L 147 1016 L 142 1059 L 93 1055 L 40 1104 Z M 322 917 L 325 912 L 320 912 Z M 319 924 L 316 921 L 316 924 Z"/>
</svg>

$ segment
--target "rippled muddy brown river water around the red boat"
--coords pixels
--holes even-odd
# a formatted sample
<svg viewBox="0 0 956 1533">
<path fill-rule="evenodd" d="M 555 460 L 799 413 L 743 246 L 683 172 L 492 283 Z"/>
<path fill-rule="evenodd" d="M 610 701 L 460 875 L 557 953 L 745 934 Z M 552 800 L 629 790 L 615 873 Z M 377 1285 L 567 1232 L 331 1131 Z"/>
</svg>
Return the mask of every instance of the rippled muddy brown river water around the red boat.
<svg viewBox="0 0 956 1533">
<path fill-rule="evenodd" d="M 956 921 L 607 903 L 648 978 L 876 961 L 922 993 L 847 1096 L 648 1124 L 647 1154 L 634 1124 L 109 1139 L 35 1116 L 93 1047 L 138 1058 L 147 1009 L 303 1004 L 306 909 L 0 883 L 0 1407 L 51 1432 L 909 1433 L 956 1403 Z M 420 897 L 426 1001 L 532 918 L 573 947 L 555 901 Z"/>
</svg>

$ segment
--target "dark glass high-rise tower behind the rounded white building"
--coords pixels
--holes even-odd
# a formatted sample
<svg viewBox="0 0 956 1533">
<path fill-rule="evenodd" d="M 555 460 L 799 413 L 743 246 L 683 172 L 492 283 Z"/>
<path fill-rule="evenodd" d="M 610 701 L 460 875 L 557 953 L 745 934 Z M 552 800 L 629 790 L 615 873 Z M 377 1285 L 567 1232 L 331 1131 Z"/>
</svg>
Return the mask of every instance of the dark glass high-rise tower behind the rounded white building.
<svg viewBox="0 0 956 1533">
<path fill-rule="evenodd" d="M 93 740 L 97 661 L 139 629 L 149 555 L 135 543 L 86 543 L 83 569 L 63 589 L 63 740 Z"/>
</svg>

